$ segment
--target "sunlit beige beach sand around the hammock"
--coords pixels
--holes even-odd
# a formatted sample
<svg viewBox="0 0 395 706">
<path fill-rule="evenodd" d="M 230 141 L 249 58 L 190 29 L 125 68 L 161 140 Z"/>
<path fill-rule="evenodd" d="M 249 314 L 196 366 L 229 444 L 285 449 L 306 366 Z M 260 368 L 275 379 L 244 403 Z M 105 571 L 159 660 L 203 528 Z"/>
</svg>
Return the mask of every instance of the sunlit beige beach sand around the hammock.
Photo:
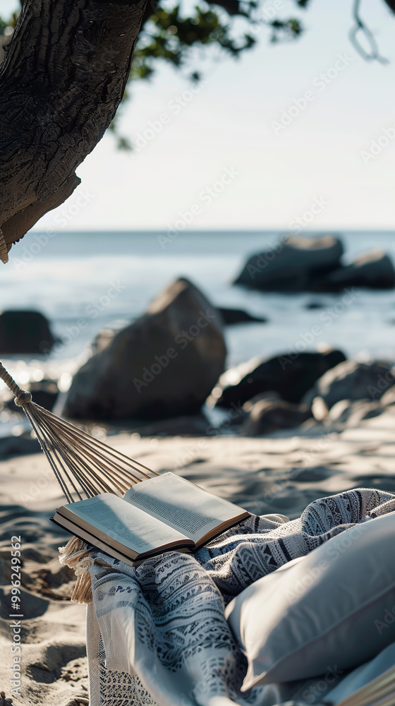
<svg viewBox="0 0 395 706">
<path fill-rule="evenodd" d="M 262 438 L 141 438 L 108 442 L 157 471 L 174 470 L 256 514 L 296 517 L 315 498 L 358 486 L 395 492 L 395 405 L 354 428 L 319 425 Z M 14 704 L 88 703 L 85 607 L 71 604 L 73 575 L 57 548 L 68 534 L 49 521 L 63 498 L 41 454 L 0 461 L 0 691 L 11 696 L 11 537 L 22 544 L 22 688 Z"/>
</svg>

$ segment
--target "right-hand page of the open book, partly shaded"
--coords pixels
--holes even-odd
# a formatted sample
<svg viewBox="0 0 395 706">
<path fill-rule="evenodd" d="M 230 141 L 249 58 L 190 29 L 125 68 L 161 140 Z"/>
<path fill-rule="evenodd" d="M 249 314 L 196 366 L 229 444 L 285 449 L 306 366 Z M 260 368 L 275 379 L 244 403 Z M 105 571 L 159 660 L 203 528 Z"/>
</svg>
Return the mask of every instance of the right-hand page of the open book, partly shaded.
<svg viewBox="0 0 395 706">
<path fill-rule="evenodd" d="M 199 540 L 226 520 L 245 511 L 222 498 L 217 498 L 174 473 L 150 478 L 135 484 L 124 499 L 164 520 L 186 537 Z"/>
</svg>

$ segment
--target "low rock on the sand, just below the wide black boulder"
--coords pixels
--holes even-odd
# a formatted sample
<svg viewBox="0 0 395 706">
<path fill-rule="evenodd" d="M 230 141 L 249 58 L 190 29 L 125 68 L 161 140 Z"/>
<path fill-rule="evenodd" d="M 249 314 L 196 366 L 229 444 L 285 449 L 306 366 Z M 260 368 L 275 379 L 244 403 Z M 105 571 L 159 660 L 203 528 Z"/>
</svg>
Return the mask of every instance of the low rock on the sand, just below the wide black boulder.
<svg viewBox="0 0 395 706">
<path fill-rule="evenodd" d="M 281 400 L 260 400 L 253 405 L 240 433 L 243 436 L 260 436 L 279 429 L 290 429 L 303 424 L 311 416 L 306 405 L 291 405 Z"/>
</svg>

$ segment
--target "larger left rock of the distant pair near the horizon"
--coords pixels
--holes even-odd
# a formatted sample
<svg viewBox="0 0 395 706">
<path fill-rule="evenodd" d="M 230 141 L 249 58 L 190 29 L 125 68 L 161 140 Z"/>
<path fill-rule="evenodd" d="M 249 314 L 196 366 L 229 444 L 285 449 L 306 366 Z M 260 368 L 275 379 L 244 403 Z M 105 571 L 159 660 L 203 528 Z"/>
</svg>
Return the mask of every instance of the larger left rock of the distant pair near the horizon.
<svg viewBox="0 0 395 706">
<path fill-rule="evenodd" d="M 339 268 L 343 244 L 333 235 L 315 238 L 284 237 L 253 255 L 235 280 L 235 285 L 268 292 L 305 292 L 311 283 Z"/>
</svg>

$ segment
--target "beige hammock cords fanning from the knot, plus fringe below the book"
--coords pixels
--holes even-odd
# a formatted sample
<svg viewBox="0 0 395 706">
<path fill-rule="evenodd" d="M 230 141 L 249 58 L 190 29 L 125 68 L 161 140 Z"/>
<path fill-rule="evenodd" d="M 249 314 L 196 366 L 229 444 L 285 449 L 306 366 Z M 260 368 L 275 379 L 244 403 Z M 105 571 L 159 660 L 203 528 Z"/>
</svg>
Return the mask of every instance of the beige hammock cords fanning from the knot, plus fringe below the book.
<svg viewBox="0 0 395 706">
<path fill-rule="evenodd" d="M 130 486 L 159 475 L 139 461 L 90 436 L 82 429 L 56 417 L 48 409 L 32 402 L 31 393 L 22 390 L 0 363 L 0 378 L 8 385 L 18 407 L 28 417 L 39 445 L 47 457 L 61 491 L 68 503 L 92 498 L 99 493 L 123 496 Z M 89 551 L 81 539 L 72 537 L 61 548 L 61 561 L 71 568 L 83 566 L 84 557 L 90 561 Z M 77 574 L 80 573 L 78 570 Z M 90 581 L 87 575 L 78 575 L 71 598 L 89 601 Z"/>
</svg>

